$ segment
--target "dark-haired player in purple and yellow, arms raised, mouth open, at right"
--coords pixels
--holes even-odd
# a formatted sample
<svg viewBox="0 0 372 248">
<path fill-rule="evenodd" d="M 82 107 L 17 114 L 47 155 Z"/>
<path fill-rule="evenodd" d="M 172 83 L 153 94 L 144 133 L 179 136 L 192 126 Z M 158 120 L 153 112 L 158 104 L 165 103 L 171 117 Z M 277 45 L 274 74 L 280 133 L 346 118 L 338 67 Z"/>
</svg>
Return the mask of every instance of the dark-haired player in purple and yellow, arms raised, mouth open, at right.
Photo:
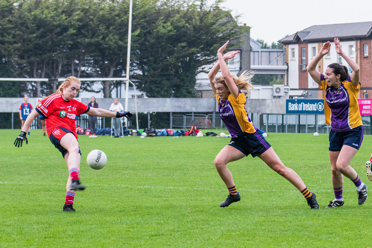
<svg viewBox="0 0 372 248">
<path fill-rule="evenodd" d="M 343 206 L 343 175 L 355 184 L 358 204 L 362 205 L 367 200 L 367 186 L 362 183 L 359 175 L 349 165 L 363 141 L 363 123 L 357 102 L 357 94 L 361 86 L 359 83 L 360 69 L 356 62 L 342 51 L 338 38 L 334 38 L 334 45 L 337 54 L 344 58 L 353 69 L 351 76 L 346 66 L 337 63 L 328 65 L 325 75 L 317 70 L 318 62 L 331 49 L 329 41 L 323 45 L 318 55 L 306 68 L 312 79 L 325 91 L 325 124 L 331 125 L 328 150 L 335 198 L 327 207 Z"/>
</svg>

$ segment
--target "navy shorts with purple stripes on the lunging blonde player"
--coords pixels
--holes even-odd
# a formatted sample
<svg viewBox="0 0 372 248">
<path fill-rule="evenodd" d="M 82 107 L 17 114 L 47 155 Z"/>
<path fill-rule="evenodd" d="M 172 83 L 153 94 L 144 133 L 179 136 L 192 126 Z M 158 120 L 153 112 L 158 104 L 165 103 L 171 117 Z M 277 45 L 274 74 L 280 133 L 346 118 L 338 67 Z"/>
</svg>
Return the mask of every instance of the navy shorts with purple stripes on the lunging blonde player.
<svg viewBox="0 0 372 248">
<path fill-rule="evenodd" d="M 262 132 L 258 129 L 254 133 L 243 132 L 238 134 L 238 136 L 231 139 L 229 145 L 243 152 L 246 156 L 251 154 L 252 157 L 263 154 L 271 147 L 269 142 L 262 136 Z"/>
</svg>

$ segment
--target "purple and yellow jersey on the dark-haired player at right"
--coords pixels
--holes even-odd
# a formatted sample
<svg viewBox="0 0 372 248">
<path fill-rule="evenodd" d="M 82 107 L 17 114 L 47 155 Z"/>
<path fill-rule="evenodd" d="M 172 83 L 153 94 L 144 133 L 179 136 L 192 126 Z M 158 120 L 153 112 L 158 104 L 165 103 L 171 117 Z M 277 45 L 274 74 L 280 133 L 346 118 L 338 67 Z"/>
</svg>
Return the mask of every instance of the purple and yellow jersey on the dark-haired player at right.
<svg viewBox="0 0 372 248">
<path fill-rule="evenodd" d="M 359 113 L 357 94 L 360 83 L 354 86 L 350 77 L 341 83 L 339 87 L 328 86 L 324 75 L 320 75 L 321 88 L 324 94 L 325 123 L 331 125 L 331 129 L 344 132 L 362 126 L 362 117 Z"/>
</svg>

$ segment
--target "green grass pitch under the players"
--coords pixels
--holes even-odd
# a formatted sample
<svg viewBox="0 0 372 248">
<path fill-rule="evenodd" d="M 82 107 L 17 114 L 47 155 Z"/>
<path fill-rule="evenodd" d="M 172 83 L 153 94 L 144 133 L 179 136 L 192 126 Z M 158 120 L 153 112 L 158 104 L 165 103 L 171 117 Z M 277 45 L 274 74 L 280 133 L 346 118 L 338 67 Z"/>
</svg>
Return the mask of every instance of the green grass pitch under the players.
<svg viewBox="0 0 372 248">
<path fill-rule="evenodd" d="M 76 193 L 78 213 L 62 212 L 68 170 L 58 150 L 41 130 L 15 148 L 18 134 L 0 130 L 0 247 L 372 246 L 372 200 L 359 206 L 350 180 L 344 177 L 344 206 L 324 208 L 334 198 L 326 134 L 267 137 L 315 192 L 319 210 L 251 156 L 228 164 L 241 201 L 219 207 L 228 191 L 213 161 L 229 138 L 81 135 L 87 189 Z M 364 136 L 351 165 L 372 190 L 365 174 L 371 147 L 372 136 Z M 93 149 L 108 157 L 102 170 L 86 164 Z"/>
</svg>

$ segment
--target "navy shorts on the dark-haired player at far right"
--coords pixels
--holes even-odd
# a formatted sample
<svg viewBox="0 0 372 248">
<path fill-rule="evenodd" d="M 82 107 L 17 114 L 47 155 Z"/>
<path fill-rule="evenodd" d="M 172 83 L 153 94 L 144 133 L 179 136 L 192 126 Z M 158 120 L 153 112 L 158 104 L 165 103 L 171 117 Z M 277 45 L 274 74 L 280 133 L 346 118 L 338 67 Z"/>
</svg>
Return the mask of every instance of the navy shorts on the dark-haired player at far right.
<svg viewBox="0 0 372 248">
<path fill-rule="evenodd" d="M 363 126 L 357 126 L 349 131 L 337 132 L 331 130 L 329 133 L 329 150 L 331 152 L 341 151 L 343 145 L 360 148 L 363 141 Z"/>
</svg>

